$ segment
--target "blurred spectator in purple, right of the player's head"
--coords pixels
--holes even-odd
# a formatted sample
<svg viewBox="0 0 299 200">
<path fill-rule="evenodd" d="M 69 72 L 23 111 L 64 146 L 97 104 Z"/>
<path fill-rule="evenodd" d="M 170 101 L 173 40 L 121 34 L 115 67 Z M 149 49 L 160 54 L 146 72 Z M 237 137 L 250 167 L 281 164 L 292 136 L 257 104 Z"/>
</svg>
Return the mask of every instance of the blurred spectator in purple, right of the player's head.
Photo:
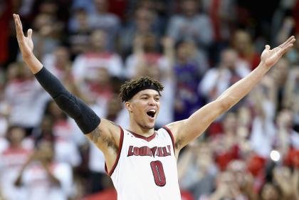
<svg viewBox="0 0 299 200">
<path fill-rule="evenodd" d="M 197 85 L 209 66 L 204 53 L 188 41 L 177 43 L 176 58 L 173 69 L 177 88 L 174 120 L 184 120 L 204 105 Z"/>
</svg>

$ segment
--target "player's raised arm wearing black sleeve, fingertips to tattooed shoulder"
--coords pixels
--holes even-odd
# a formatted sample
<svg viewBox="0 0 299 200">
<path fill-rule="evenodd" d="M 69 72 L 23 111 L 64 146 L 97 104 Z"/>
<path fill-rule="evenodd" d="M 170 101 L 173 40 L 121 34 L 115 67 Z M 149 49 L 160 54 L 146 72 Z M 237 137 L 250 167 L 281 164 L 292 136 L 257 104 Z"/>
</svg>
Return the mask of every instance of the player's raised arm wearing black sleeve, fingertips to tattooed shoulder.
<svg viewBox="0 0 299 200">
<path fill-rule="evenodd" d="M 75 120 L 85 136 L 103 151 L 105 157 L 115 154 L 120 140 L 120 128 L 108 120 L 100 120 L 100 117 L 88 105 L 69 93 L 61 82 L 44 68 L 43 64 L 34 56 L 31 38 L 32 29 L 28 29 L 26 37 L 23 35 L 23 28 L 18 14 L 14 14 L 14 22 L 16 24 L 16 38 L 23 60 L 41 86 L 51 95 L 58 107 Z M 112 156 L 110 159 L 111 161 L 107 161 L 108 169 L 110 162 L 113 163 L 114 157 Z"/>
</svg>

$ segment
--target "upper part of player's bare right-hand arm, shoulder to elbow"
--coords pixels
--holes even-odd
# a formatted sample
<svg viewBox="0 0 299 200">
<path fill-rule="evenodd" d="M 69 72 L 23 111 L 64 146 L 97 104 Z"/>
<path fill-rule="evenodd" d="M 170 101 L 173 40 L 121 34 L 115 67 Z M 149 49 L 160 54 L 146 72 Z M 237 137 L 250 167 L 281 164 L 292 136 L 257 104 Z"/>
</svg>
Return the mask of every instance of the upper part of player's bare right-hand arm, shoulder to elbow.
<svg viewBox="0 0 299 200">
<path fill-rule="evenodd" d="M 177 123 L 176 143 L 179 149 L 199 137 L 211 122 L 224 113 L 226 107 L 219 100 L 210 102 L 194 112 L 187 120 Z"/>
</svg>

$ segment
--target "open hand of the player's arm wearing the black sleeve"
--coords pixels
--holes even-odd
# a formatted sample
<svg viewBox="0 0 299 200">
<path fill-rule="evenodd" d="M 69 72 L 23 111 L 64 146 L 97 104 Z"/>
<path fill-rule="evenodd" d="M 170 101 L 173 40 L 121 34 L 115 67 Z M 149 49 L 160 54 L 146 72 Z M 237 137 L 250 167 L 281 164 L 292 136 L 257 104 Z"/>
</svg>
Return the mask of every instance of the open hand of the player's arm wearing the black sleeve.
<svg viewBox="0 0 299 200">
<path fill-rule="evenodd" d="M 27 37 L 23 34 L 23 26 L 19 14 L 14 14 L 14 23 L 16 25 L 16 38 L 18 39 L 19 47 L 23 58 L 28 58 L 33 55 L 32 29 L 28 29 Z"/>
</svg>

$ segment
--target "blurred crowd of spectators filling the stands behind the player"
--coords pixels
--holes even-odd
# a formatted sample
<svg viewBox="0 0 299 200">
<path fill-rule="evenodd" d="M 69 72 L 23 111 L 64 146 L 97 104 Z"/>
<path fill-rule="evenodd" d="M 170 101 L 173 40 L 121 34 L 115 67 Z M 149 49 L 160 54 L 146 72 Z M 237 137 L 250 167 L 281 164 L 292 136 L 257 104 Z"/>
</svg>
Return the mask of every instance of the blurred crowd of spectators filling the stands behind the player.
<svg viewBox="0 0 299 200">
<path fill-rule="evenodd" d="M 182 149 L 178 174 L 184 200 L 299 199 L 298 0 L 0 1 L 0 199 L 113 200 L 103 154 L 22 62 L 13 13 L 33 29 L 43 65 L 125 128 L 125 80 L 164 85 L 159 128 L 248 75 L 266 44 L 295 35 L 261 83 Z"/>
</svg>

